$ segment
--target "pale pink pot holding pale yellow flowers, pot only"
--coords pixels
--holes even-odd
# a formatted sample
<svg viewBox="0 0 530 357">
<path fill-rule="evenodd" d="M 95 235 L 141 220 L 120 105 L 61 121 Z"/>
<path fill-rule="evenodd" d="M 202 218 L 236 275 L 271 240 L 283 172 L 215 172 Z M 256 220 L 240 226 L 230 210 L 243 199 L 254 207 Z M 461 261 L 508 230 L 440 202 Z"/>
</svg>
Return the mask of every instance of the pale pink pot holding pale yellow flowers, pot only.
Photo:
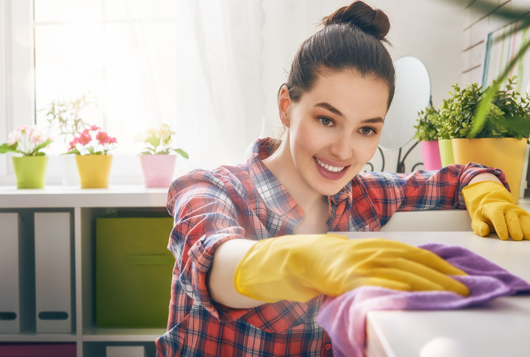
<svg viewBox="0 0 530 357">
<path fill-rule="evenodd" d="M 140 155 L 145 187 L 169 187 L 176 155 Z"/>
</svg>

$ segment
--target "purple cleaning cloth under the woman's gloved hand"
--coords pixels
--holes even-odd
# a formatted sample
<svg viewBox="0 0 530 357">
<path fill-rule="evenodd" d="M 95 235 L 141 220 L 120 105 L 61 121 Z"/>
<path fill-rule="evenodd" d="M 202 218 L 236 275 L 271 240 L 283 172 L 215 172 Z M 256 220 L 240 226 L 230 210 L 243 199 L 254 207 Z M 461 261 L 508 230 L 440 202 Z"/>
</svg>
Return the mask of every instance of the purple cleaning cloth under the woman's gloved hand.
<svg viewBox="0 0 530 357">
<path fill-rule="evenodd" d="M 364 357 L 366 314 L 370 310 L 460 309 L 503 295 L 530 291 L 530 285 L 469 249 L 440 243 L 420 248 L 430 250 L 469 275 L 454 276 L 470 290 L 468 297 L 448 291 L 399 291 L 379 286 L 361 286 L 329 298 L 317 322 L 329 334 L 335 357 Z"/>
</svg>

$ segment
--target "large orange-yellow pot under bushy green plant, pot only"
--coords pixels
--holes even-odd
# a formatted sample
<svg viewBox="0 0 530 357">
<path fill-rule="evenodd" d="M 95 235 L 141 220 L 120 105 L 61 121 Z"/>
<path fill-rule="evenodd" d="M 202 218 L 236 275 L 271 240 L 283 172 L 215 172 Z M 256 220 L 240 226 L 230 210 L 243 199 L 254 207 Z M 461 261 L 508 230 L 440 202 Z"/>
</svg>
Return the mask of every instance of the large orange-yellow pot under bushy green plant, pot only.
<svg viewBox="0 0 530 357">
<path fill-rule="evenodd" d="M 484 137 L 480 139 L 452 139 L 456 163 L 476 162 L 504 171 L 514 203 L 519 203 L 519 188 L 525 163 L 526 138 Z"/>
</svg>

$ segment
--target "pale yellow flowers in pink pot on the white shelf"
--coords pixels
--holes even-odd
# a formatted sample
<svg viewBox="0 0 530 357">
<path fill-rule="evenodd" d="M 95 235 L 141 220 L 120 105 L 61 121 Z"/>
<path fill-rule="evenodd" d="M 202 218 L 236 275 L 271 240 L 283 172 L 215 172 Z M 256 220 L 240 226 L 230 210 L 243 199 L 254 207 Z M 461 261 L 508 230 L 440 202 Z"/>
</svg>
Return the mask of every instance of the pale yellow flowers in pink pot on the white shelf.
<svg viewBox="0 0 530 357">
<path fill-rule="evenodd" d="M 138 133 L 136 142 L 145 144 L 144 151 L 139 154 L 140 164 L 144 173 L 145 187 L 169 187 L 173 179 L 176 152 L 188 159 L 182 149 L 171 147 L 171 136 L 175 134 L 167 124 L 157 128 L 149 128 L 145 133 Z"/>
</svg>

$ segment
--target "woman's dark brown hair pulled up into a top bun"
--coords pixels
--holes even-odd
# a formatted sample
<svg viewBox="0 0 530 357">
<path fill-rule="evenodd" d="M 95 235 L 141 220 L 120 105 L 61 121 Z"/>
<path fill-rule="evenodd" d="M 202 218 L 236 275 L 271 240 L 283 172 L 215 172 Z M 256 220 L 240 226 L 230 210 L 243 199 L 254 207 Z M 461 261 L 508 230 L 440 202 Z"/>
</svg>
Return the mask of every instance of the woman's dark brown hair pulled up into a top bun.
<svg viewBox="0 0 530 357">
<path fill-rule="evenodd" d="M 353 71 L 388 86 L 390 108 L 395 90 L 392 58 L 385 47 L 390 30 L 388 16 L 362 1 L 339 8 L 322 19 L 324 28 L 298 48 L 289 71 L 289 98 L 297 102 L 313 88 L 317 75 L 327 71 Z M 278 91 L 278 99 L 280 95 Z"/>
</svg>

